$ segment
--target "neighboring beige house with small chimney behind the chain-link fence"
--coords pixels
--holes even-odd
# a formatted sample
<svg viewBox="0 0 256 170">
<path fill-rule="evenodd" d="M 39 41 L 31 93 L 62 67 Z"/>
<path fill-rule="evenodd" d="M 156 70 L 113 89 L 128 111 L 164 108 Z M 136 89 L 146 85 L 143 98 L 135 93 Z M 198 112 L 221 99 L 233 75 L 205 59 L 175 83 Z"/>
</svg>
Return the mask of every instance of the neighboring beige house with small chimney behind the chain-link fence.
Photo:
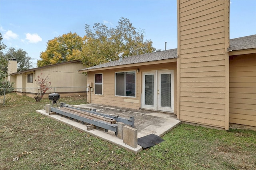
<svg viewBox="0 0 256 170">
<path fill-rule="evenodd" d="M 34 97 L 40 93 L 35 80 L 42 73 L 44 77 L 48 76 L 52 83 L 50 86 L 52 89 L 48 90 L 47 93 L 55 91 L 62 97 L 86 95 L 87 76 L 77 72 L 77 70 L 82 68 L 84 66 L 81 61 L 76 60 L 17 72 L 17 60 L 11 59 L 8 61 L 8 71 L 10 74 L 8 80 L 14 82 L 17 94 Z M 48 95 L 44 97 L 48 97 Z"/>
</svg>

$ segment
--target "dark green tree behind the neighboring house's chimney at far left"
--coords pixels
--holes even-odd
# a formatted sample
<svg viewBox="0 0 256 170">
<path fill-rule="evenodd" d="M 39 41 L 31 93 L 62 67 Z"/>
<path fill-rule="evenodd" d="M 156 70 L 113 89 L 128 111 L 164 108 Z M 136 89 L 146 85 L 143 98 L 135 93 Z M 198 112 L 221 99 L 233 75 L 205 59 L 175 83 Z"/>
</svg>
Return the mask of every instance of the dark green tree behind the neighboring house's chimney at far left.
<svg viewBox="0 0 256 170">
<path fill-rule="evenodd" d="M 16 50 L 14 47 L 10 47 L 5 54 L 6 59 L 17 59 L 18 72 L 28 70 L 32 64 L 31 57 L 23 49 Z"/>
</svg>

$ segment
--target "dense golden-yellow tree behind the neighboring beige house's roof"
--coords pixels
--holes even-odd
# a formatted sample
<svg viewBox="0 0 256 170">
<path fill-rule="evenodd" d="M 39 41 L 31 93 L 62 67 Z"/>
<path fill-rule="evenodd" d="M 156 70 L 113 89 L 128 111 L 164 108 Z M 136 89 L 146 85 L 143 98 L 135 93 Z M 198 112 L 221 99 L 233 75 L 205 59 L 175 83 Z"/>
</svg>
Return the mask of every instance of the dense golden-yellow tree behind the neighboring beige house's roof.
<svg viewBox="0 0 256 170">
<path fill-rule="evenodd" d="M 55 37 L 47 43 L 46 51 L 41 52 L 41 61 L 37 66 L 62 63 L 66 61 L 81 59 L 83 39 L 77 33 L 67 33 Z"/>
</svg>

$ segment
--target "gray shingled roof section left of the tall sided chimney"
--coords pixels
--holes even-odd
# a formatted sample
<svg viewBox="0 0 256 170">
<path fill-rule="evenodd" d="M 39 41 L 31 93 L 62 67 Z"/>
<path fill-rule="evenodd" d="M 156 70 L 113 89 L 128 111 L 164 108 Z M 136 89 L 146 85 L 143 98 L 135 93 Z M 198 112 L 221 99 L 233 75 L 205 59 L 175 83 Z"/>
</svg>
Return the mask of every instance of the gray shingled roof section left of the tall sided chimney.
<svg viewBox="0 0 256 170">
<path fill-rule="evenodd" d="M 119 61 L 119 60 L 110 61 L 108 63 L 84 68 L 82 70 L 90 70 L 94 68 L 105 68 L 105 67 L 111 67 L 111 66 L 121 66 L 126 64 L 145 63 L 149 61 L 159 61 L 159 60 L 173 59 L 173 58 L 177 58 L 177 49 L 146 53 L 142 55 L 134 55 L 127 58 L 123 58 L 122 61 Z"/>
</svg>

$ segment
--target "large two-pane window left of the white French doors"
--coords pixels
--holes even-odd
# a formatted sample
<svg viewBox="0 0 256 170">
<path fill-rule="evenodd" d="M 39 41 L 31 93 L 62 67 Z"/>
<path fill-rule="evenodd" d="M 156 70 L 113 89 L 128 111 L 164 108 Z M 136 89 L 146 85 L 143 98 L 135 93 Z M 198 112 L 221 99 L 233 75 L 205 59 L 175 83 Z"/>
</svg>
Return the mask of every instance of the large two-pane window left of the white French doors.
<svg viewBox="0 0 256 170">
<path fill-rule="evenodd" d="M 135 97 L 135 71 L 116 72 L 116 96 Z"/>
</svg>

